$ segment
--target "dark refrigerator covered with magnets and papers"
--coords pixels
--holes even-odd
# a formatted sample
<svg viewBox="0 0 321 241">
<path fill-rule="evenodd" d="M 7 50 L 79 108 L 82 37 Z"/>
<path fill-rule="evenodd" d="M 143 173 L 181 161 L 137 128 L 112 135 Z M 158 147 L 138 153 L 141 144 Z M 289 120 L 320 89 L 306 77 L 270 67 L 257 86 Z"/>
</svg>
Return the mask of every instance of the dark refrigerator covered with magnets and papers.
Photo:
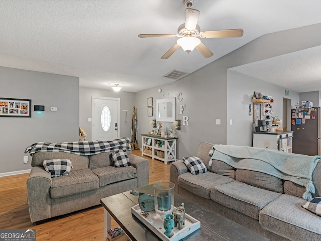
<svg viewBox="0 0 321 241">
<path fill-rule="evenodd" d="M 320 107 L 291 109 L 292 153 L 321 155 Z"/>
</svg>

